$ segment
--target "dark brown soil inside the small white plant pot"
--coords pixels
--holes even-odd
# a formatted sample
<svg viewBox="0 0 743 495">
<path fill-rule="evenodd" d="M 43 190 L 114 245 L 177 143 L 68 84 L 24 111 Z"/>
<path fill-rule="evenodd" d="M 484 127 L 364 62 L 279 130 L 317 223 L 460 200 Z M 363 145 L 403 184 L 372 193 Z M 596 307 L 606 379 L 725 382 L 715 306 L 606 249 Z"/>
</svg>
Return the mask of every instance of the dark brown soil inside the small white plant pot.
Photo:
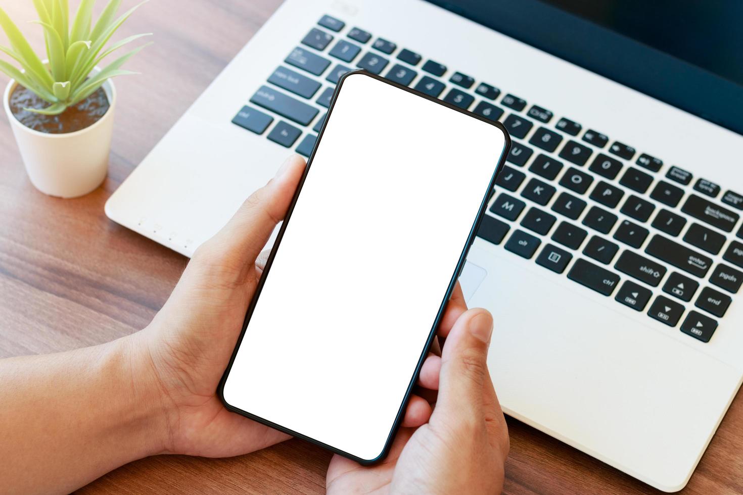
<svg viewBox="0 0 743 495">
<path fill-rule="evenodd" d="M 10 111 L 27 128 L 46 134 L 68 134 L 90 127 L 108 111 L 110 104 L 103 88 L 59 115 L 42 115 L 24 108 L 46 108 L 49 103 L 22 85 L 16 85 L 10 95 Z"/>
</svg>

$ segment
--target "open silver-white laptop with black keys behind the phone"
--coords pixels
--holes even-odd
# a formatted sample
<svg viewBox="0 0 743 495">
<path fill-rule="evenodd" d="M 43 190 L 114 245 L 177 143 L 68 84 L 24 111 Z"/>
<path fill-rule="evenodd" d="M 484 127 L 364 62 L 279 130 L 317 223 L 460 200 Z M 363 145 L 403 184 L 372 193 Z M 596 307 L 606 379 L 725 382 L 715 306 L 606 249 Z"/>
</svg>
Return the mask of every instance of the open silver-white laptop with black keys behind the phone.
<svg viewBox="0 0 743 495">
<path fill-rule="evenodd" d="M 106 214 L 192 255 L 311 154 L 354 68 L 498 119 L 461 284 L 495 315 L 503 409 L 678 491 L 743 379 L 742 5 L 287 0 Z"/>
</svg>

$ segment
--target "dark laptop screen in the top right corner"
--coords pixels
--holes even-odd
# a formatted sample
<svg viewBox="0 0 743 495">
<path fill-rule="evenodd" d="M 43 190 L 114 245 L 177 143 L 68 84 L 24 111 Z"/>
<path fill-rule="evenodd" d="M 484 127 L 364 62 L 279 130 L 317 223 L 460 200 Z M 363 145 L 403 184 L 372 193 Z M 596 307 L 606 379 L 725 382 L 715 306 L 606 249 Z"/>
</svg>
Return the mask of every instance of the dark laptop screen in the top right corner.
<svg viewBox="0 0 743 495">
<path fill-rule="evenodd" d="M 743 1 L 429 1 L 743 134 Z"/>
</svg>

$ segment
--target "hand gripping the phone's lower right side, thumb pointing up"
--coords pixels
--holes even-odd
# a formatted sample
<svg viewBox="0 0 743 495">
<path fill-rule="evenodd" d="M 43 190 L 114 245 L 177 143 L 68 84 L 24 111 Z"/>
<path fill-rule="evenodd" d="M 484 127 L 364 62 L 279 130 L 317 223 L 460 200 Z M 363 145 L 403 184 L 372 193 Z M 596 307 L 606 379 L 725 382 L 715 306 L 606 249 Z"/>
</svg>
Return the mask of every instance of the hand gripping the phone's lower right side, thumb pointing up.
<svg viewBox="0 0 743 495">
<path fill-rule="evenodd" d="M 328 494 L 502 491 L 509 441 L 487 370 L 493 318 L 484 309 L 466 309 L 458 289 L 438 329 L 447 339 L 441 358 L 429 356 L 421 369 L 419 384 L 438 390 L 430 416 L 411 415 L 411 407 L 421 408 L 411 403 L 410 420 L 380 464 L 364 467 L 333 456 L 325 481 Z"/>
</svg>

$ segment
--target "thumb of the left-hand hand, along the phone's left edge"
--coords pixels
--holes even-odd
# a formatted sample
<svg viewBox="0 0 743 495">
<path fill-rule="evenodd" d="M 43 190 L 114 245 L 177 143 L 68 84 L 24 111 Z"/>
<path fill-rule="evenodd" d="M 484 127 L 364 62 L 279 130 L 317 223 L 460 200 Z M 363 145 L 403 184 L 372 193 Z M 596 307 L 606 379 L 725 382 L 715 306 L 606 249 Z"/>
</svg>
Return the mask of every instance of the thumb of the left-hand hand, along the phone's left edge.
<svg viewBox="0 0 743 495">
<path fill-rule="evenodd" d="M 224 255 L 252 261 L 266 245 L 276 224 L 284 219 L 305 170 L 305 160 L 293 155 L 265 186 L 250 194 L 232 219 L 214 237 Z"/>
</svg>

